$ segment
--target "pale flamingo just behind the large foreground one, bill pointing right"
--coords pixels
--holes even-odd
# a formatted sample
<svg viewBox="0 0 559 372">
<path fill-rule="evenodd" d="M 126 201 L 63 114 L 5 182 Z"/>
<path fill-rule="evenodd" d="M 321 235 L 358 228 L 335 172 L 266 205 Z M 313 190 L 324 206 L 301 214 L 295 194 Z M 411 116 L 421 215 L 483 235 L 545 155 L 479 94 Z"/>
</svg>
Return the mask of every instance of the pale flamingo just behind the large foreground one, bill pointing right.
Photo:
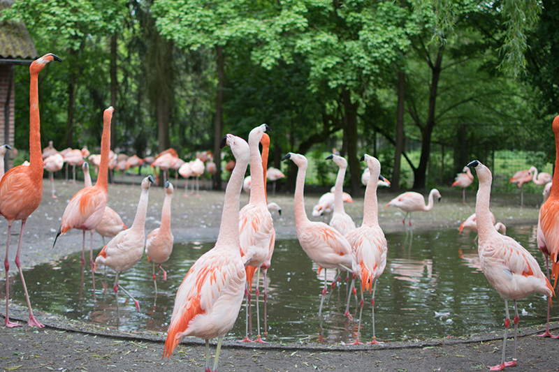
<svg viewBox="0 0 559 372">
<path fill-rule="evenodd" d="M 252 291 L 252 278 L 254 272 L 258 270 L 268 258 L 270 244 L 275 242 L 275 230 L 272 215 L 268 210 L 268 202 L 266 201 L 266 190 L 264 184 L 264 170 L 262 167 L 262 158 L 259 151 L 259 143 L 265 131 L 270 128 L 266 124 L 257 126 L 249 133 L 249 149 L 250 149 L 250 177 L 252 179 L 251 193 L 249 203 L 242 207 L 239 212 L 239 239 L 240 254 L 242 261 L 247 267 L 247 288 L 245 294 L 247 297 L 247 326 L 245 339 L 250 341 L 248 337 L 248 312 L 250 306 L 250 292 Z M 259 277 L 257 277 L 259 278 Z M 258 285 L 256 281 L 256 311 L 257 311 L 257 332 L 256 341 L 262 342 L 260 334 L 260 314 L 258 307 Z"/>
</svg>

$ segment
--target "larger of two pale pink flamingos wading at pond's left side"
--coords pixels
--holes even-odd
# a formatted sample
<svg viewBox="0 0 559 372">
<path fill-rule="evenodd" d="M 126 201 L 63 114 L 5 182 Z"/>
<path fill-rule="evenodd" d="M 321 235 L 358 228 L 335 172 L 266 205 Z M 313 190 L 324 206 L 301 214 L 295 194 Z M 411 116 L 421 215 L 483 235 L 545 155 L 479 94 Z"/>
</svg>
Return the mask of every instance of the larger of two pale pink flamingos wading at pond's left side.
<svg viewBox="0 0 559 372">
<path fill-rule="evenodd" d="M 115 276 L 115 285 L 112 289 L 115 291 L 118 306 L 118 289 L 120 288 L 128 297 L 134 302 L 136 311 L 140 311 L 140 304 L 130 292 L 128 292 L 122 285 L 119 285 L 118 279 L 120 274 L 124 271 L 131 269 L 136 262 L 142 258 L 145 246 L 145 216 L 147 214 L 147 201 L 150 192 L 150 185 L 153 184 L 153 177 L 147 176 L 142 180 L 140 193 L 140 200 L 138 201 L 138 208 L 136 209 L 136 216 L 134 222 L 129 229 L 121 231 L 118 235 L 108 242 L 106 246 L 101 249 L 99 255 L 95 258 L 94 271 L 97 270 L 99 265 L 105 265 L 117 272 Z"/>
</svg>

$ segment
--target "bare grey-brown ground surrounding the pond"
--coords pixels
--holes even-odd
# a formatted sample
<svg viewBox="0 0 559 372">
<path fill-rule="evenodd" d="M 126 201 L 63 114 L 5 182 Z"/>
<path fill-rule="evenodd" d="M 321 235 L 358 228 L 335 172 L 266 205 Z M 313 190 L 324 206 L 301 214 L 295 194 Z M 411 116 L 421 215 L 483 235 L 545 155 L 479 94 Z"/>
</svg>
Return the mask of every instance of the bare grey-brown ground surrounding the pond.
<svg viewBox="0 0 559 372">
<path fill-rule="evenodd" d="M 117 177 L 117 181 L 119 181 Z M 131 181 L 128 177 L 126 181 Z M 116 184 L 110 186 L 108 205 L 121 214 L 124 222 L 131 225 L 140 195 L 138 186 Z M 57 199 L 50 196 L 50 183 L 45 180 L 41 206 L 29 218 L 22 244 L 21 262 L 24 267 L 57 260 L 69 253 L 80 251 L 82 232 L 71 231 L 59 237 L 52 248 L 59 228 L 60 218 L 71 196 L 81 188 L 81 183 L 72 184 L 55 181 Z M 177 186 L 175 184 L 175 186 Z M 179 241 L 214 241 L 219 230 L 222 192 L 203 191 L 200 197 L 183 197 L 184 184 L 175 191 L 173 200 L 173 235 Z M 474 212 L 475 191 L 467 194 L 467 204 L 462 204 L 459 191 L 442 190 L 443 198 L 428 213 L 414 214 L 416 230 L 457 228 L 463 219 Z M 305 207 L 310 216 L 312 205 L 320 193 L 305 195 Z M 379 191 L 381 206 L 379 220 L 385 232 L 402 230 L 402 214 L 397 209 L 382 209 L 395 197 L 389 190 Z M 164 199 L 162 188 L 150 191 L 150 206 L 147 213 L 146 232 L 159 225 L 161 205 Z M 247 202 L 241 195 L 241 204 Z M 282 206 L 282 216 L 275 216 L 277 239 L 296 237 L 293 218 L 293 195 L 277 193 L 269 195 L 270 201 Z M 539 194 L 525 195 L 525 207 L 520 207 L 520 195 L 516 193 L 493 195 L 491 209 L 498 221 L 505 225 L 536 223 Z M 354 198 L 346 204 L 346 211 L 361 223 L 363 216 L 362 198 Z M 316 219 L 316 218 L 315 218 Z M 320 219 L 320 218 L 319 218 Z M 326 218 L 322 218 L 326 221 Z M 10 243 L 10 275 L 17 273 L 13 264 L 17 249 L 20 224 L 15 223 Z M 7 224 L 0 221 L 0 234 L 6 239 Z M 0 241 L 2 241 L 0 239 Z M 5 240 L 3 240 L 5 241 Z M 3 244 L 3 243 L 2 243 Z M 89 244 L 89 237 L 87 237 Z M 100 248 L 103 241 L 94 237 L 94 245 Z M 17 279 L 19 280 L 19 279 Z M 2 285 L 3 286 L 3 285 Z M 3 291 L 3 288 L 2 288 Z M 32 299 L 31 299 L 32 301 Z M 101 327 L 92 327 L 63 317 L 36 312 L 37 318 L 46 326 L 44 329 L 27 327 L 27 308 L 21 304 L 10 304 L 10 318 L 21 320 L 22 327 L 8 329 L 0 327 L 0 369 L 5 371 L 36 369 L 39 371 L 201 371 L 205 364 L 204 346 L 201 341 L 188 338 L 173 353 L 163 360 L 164 334 L 143 332 L 126 334 L 108 332 Z M 3 306 L 1 313 L 3 313 Z M 556 313 L 552 309 L 552 313 Z M 554 318 L 556 319 L 556 317 Z M 522 325 L 522 323 L 521 323 Z M 559 333 L 559 325 L 553 322 L 553 334 Z M 498 327 L 495 327 L 498 329 Z M 559 340 L 538 338 L 539 329 L 521 327 L 518 341 L 518 371 L 557 371 L 559 363 Z M 511 340 L 510 340 L 511 341 Z M 509 342 L 508 351 L 512 351 Z M 244 344 L 224 343 L 219 371 L 472 371 L 500 362 L 502 332 L 489 332 L 467 338 L 444 338 L 430 341 L 388 342 L 384 345 L 324 346 L 313 343 Z M 214 350 L 213 346 L 212 349 Z M 507 352 L 507 356 L 511 353 Z"/>
</svg>

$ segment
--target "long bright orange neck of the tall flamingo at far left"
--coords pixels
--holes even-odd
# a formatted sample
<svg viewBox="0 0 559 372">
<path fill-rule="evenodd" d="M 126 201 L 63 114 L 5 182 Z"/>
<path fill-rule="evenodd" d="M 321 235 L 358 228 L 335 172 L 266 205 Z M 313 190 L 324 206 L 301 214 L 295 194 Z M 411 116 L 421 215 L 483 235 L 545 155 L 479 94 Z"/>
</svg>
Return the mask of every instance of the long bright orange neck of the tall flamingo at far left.
<svg viewBox="0 0 559 372">
<path fill-rule="evenodd" d="M 29 167 L 33 174 L 43 177 L 41 151 L 41 118 L 39 117 L 38 72 L 31 72 L 29 84 Z M 41 185 L 43 183 L 41 182 Z"/>
</svg>

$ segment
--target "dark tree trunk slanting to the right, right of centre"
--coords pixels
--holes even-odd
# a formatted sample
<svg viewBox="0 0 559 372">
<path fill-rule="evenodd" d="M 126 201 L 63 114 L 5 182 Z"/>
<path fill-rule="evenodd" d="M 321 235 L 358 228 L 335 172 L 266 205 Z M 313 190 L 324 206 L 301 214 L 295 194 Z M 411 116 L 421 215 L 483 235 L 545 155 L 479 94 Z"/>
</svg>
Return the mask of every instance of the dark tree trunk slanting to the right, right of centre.
<svg viewBox="0 0 559 372">
<path fill-rule="evenodd" d="M 431 135 L 433 135 L 433 128 L 435 127 L 435 103 L 437 101 L 437 88 L 441 75 L 443 51 L 444 45 L 440 45 L 439 50 L 437 51 L 435 64 L 430 66 L 432 77 L 429 89 L 429 112 L 426 125 L 421 131 L 423 140 L 423 143 L 421 144 L 421 158 L 419 159 L 418 167 L 414 170 L 414 188 L 416 189 L 425 188 L 426 185 L 426 171 L 431 151 Z"/>
</svg>

